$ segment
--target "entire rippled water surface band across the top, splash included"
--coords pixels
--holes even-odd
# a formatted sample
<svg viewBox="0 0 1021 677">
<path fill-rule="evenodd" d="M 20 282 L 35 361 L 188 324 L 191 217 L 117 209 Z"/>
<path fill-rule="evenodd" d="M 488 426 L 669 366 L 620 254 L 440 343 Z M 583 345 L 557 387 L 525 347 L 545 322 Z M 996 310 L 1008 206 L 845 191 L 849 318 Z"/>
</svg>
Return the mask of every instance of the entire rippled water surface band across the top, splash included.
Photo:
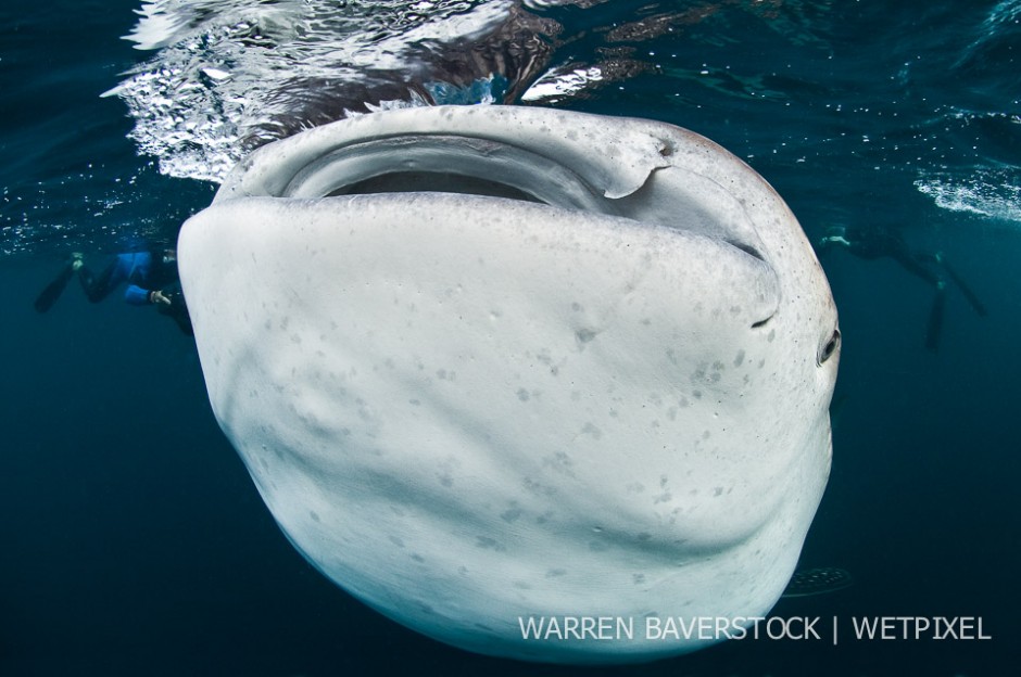
<svg viewBox="0 0 1021 677">
<path fill-rule="evenodd" d="M 142 60 L 91 75 L 108 116 L 126 106 L 130 128 L 119 138 L 126 132 L 139 156 L 118 146 L 73 171 L 7 171 L 2 248 L 169 240 L 209 200 L 205 182 L 251 149 L 346 115 L 433 103 L 594 110 L 690 127 L 771 180 L 827 192 L 827 204 L 803 215 L 809 231 L 854 218 L 845 207 L 862 184 L 877 201 L 913 193 L 1018 223 L 1019 8 L 154 0 L 125 36 Z"/>
</svg>

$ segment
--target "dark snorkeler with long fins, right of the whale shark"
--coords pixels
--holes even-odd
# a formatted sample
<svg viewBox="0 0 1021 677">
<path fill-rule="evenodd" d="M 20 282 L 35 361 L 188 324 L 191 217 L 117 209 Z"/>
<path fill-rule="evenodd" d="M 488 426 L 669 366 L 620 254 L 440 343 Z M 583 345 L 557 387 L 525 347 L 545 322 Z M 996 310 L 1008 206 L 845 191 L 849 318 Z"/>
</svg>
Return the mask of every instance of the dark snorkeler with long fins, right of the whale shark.
<svg viewBox="0 0 1021 677">
<path fill-rule="evenodd" d="M 819 241 L 819 248 L 831 246 L 846 247 L 860 258 L 879 258 L 887 256 L 900 266 L 936 290 L 932 310 L 929 312 L 929 329 L 925 334 L 925 347 L 930 350 L 940 348 L 940 332 L 943 328 L 943 311 L 946 307 L 946 279 L 949 278 L 961 291 L 971 307 L 981 317 L 986 316 L 985 306 L 979 301 L 974 292 L 954 271 L 946 261 L 942 252 L 927 254 L 913 252 L 908 247 L 904 238 L 896 231 L 882 228 L 847 228 L 835 226 L 827 230 L 827 235 Z"/>
</svg>

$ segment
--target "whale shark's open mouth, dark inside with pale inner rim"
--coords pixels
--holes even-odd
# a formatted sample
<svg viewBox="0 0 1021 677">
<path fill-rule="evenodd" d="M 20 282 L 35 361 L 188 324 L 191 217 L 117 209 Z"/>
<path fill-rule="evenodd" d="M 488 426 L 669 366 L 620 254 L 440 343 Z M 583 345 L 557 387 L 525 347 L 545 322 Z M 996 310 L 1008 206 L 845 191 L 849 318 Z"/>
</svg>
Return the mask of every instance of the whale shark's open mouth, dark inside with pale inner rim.
<svg viewBox="0 0 1021 677">
<path fill-rule="evenodd" d="M 661 140 L 657 148 L 660 159 L 667 161 L 675 146 L 673 140 Z M 601 186 L 602 177 L 587 176 L 591 167 L 588 173 L 585 167 L 578 170 L 570 159 L 564 162 L 555 150 L 551 153 L 544 148 L 468 133 L 379 136 L 339 143 L 320 155 L 303 157 L 303 164 L 287 163 L 266 193 L 291 199 L 421 192 L 501 197 L 705 234 L 765 260 L 743 205 L 710 179 L 693 174 L 657 189 L 655 174 L 661 167 L 650 164 L 641 183 L 627 189 L 630 194 L 610 194 Z M 667 166 L 666 162 L 657 164 Z M 647 193 L 665 190 L 672 193 L 670 209 L 647 208 Z M 689 190 L 690 199 L 685 196 Z M 711 193 L 708 203 L 707 193 Z M 727 217 L 720 218 L 720 214 Z"/>
</svg>

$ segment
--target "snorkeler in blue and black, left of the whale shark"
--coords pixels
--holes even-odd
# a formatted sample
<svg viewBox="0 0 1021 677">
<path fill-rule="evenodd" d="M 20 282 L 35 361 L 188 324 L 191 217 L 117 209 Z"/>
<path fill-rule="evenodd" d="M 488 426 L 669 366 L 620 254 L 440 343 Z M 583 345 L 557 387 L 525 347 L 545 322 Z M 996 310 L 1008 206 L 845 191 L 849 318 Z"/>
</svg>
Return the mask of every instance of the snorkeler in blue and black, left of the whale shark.
<svg viewBox="0 0 1021 677">
<path fill-rule="evenodd" d="M 135 306 L 153 305 L 159 312 L 177 322 L 182 332 L 194 335 L 180 290 L 177 256 L 173 250 L 117 254 L 98 277 L 85 265 L 81 254 L 74 253 L 60 274 L 36 298 L 36 310 L 49 310 L 75 272 L 91 303 L 99 303 L 121 283 L 127 282 L 124 292 L 126 303 Z"/>
</svg>

